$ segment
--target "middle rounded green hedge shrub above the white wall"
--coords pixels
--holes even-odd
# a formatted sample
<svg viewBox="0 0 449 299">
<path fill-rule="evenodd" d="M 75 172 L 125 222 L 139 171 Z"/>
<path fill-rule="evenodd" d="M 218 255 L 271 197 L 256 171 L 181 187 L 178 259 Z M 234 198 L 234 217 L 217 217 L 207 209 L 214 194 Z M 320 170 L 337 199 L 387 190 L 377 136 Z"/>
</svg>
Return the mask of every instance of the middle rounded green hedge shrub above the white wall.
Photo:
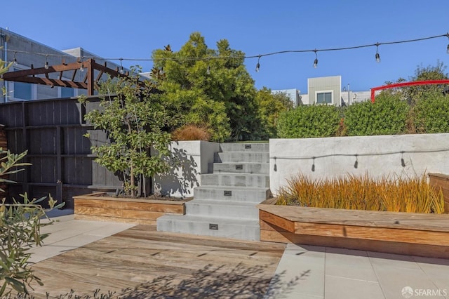
<svg viewBox="0 0 449 299">
<path fill-rule="evenodd" d="M 349 136 L 406 133 L 408 103 L 399 95 L 381 93 L 374 103 L 356 102 L 347 107 L 344 125 Z"/>
</svg>

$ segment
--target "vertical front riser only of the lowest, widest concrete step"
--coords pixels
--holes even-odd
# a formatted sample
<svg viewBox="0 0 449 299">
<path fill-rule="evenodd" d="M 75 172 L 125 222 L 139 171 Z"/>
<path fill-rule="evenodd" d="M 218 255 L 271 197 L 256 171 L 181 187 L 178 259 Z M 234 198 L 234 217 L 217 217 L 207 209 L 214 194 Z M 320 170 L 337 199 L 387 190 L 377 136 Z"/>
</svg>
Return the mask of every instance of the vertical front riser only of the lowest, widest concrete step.
<svg viewBox="0 0 449 299">
<path fill-rule="evenodd" d="M 218 230 L 210 230 L 209 225 L 218 225 Z M 222 237 L 249 241 L 260 240 L 259 225 L 234 225 L 229 222 L 214 221 L 213 223 L 201 221 L 171 220 L 159 218 L 157 230 L 162 232 L 180 232 L 183 234 L 196 234 L 201 236 Z"/>
</svg>

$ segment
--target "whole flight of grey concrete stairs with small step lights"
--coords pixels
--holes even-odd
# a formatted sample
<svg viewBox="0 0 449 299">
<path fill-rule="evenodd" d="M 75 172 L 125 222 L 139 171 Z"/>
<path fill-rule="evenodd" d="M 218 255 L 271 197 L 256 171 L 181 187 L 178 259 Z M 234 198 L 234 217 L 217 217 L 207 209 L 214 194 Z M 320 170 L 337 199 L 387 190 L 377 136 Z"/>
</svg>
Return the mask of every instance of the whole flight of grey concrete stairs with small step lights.
<svg viewBox="0 0 449 299">
<path fill-rule="evenodd" d="M 259 240 L 259 210 L 269 191 L 269 143 L 223 143 L 213 173 L 185 205 L 185 215 L 163 215 L 157 230 L 243 240 Z"/>
</svg>

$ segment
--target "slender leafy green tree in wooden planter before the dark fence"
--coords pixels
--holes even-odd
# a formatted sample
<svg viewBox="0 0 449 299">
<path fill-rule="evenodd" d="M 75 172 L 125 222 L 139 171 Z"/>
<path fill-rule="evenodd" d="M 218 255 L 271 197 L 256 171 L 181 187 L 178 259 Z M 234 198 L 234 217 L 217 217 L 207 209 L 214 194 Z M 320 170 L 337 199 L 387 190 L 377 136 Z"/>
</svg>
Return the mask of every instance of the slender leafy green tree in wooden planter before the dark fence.
<svg viewBox="0 0 449 299">
<path fill-rule="evenodd" d="M 109 79 L 100 84 L 100 109 L 86 114 L 95 129 L 104 130 L 110 142 L 91 147 L 95 161 L 119 173 L 124 194 L 146 196 L 145 178 L 168 171 L 172 119 L 155 80 L 140 81 L 138 69 L 130 76 Z M 80 102 L 87 102 L 81 97 Z M 86 135 L 86 137 L 89 137 Z M 154 152 L 152 151 L 154 150 Z"/>
</svg>

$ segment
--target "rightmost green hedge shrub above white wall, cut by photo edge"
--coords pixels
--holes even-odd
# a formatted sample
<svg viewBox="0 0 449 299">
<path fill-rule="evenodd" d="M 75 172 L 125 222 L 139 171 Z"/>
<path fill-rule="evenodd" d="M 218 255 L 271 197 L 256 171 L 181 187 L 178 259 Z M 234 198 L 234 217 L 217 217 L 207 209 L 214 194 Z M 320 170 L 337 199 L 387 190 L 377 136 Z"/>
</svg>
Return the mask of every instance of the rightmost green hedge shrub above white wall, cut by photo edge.
<svg viewBox="0 0 449 299">
<path fill-rule="evenodd" d="M 449 96 L 425 93 L 415 107 L 415 128 L 418 133 L 449 132 Z"/>
</svg>

